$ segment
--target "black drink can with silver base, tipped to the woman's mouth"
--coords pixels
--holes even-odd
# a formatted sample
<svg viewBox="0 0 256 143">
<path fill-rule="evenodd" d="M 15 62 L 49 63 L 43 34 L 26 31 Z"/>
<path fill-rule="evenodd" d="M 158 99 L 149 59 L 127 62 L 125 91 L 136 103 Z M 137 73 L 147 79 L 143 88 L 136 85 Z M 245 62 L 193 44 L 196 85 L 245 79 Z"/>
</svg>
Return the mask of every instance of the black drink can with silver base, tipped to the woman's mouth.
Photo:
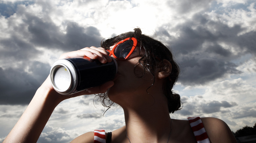
<svg viewBox="0 0 256 143">
<path fill-rule="evenodd" d="M 72 94 L 113 80 L 117 62 L 102 64 L 88 57 L 59 59 L 53 63 L 50 78 L 53 88 L 62 95 Z"/>
</svg>

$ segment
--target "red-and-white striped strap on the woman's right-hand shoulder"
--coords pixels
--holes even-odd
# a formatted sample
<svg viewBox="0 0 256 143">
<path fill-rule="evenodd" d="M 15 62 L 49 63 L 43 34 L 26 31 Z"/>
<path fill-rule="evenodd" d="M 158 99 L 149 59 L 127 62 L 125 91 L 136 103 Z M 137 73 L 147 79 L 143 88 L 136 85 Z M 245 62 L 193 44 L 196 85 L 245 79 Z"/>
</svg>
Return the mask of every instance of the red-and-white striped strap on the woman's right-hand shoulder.
<svg viewBox="0 0 256 143">
<path fill-rule="evenodd" d="M 210 143 L 208 135 L 204 129 L 202 120 L 200 117 L 189 117 L 188 122 L 194 132 L 198 143 Z"/>
</svg>

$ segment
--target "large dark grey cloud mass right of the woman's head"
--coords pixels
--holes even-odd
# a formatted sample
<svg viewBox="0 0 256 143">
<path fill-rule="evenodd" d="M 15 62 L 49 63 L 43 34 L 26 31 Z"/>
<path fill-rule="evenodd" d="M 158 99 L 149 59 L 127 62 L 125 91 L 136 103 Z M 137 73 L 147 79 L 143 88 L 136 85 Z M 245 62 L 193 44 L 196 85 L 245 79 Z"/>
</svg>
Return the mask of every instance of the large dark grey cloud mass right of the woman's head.
<svg viewBox="0 0 256 143">
<path fill-rule="evenodd" d="M 227 74 L 239 74 L 241 71 L 236 68 L 241 63 L 232 60 L 248 53 L 256 56 L 255 31 L 240 34 L 245 30 L 240 25 L 229 27 L 211 21 L 207 15 L 197 14 L 192 19 L 173 28 L 179 37 L 171 36 L 163 28 L 158 31 L 159 35 L 169 38 L 168 43 L 181 66 L 179 81 L 183 85 L 205 84 Z M 220 45 L 220 42 L 227 47 Z M 231 48 L 235 49 L 235 53 Z"/>
</svg>

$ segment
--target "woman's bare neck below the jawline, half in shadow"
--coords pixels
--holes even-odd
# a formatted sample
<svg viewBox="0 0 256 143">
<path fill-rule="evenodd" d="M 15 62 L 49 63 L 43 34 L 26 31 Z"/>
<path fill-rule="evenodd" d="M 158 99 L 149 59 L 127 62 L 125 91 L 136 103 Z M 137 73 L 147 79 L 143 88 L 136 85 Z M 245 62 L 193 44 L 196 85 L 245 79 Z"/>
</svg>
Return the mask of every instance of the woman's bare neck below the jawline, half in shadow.
<svg viewBox="0 0 256 143">
<path fill-rule="evenodd" d="M 132 143 L 166 143 L 168 140 L 171 131 L 171 118 L 168 108 L 157 103 L 159 102 L 155 102 L 151 106 L 141 106 L 139 110 L 138 108 L 137 110 L 124 108 L 126 132 Z"/>
</svg>

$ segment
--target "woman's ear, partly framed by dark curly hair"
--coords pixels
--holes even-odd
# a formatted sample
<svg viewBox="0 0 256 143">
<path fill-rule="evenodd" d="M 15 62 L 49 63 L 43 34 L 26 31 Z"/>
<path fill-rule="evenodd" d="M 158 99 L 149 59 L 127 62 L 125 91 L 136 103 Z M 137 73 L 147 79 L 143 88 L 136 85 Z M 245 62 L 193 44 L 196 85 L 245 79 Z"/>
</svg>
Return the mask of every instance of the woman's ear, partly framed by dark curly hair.
<svg viewBox="0 0 256 143">
<path fill-rule="evenodd" d="M 171 71 L 172 71 L 172 64 L 168 60 L 164 59 L 161 61 L 158 67 L 157 78 L 163 79 L 169 76 Z"/>
</svg>

